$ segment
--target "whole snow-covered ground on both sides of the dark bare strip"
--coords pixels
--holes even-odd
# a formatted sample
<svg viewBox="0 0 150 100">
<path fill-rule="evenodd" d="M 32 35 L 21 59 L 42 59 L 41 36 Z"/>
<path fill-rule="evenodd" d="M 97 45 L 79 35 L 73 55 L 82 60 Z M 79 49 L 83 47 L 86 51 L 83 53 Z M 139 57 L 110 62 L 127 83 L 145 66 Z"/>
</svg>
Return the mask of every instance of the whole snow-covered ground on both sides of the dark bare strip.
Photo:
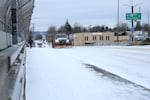
<svg viewBox="0 0 150 100">
<path fill-rule="evenodd" d="M 149 100 L 150 92 L 101 76 L 98 66 L 150 89 L 150 47 L 27 49 L 27 100 Z"/>
</svg>

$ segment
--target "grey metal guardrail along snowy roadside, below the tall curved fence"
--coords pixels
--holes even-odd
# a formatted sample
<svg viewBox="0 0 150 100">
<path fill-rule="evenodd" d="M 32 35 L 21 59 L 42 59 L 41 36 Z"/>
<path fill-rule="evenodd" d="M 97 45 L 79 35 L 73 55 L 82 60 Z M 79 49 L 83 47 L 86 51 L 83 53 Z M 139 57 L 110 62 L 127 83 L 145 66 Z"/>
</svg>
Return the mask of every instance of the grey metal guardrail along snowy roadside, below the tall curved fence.
<svg viewBox="0 0 150 100">
<path fill-rule="evenodd" d="M 0 100 L 25 100 L 25 43 L 0 52 Z"/>
</svg>

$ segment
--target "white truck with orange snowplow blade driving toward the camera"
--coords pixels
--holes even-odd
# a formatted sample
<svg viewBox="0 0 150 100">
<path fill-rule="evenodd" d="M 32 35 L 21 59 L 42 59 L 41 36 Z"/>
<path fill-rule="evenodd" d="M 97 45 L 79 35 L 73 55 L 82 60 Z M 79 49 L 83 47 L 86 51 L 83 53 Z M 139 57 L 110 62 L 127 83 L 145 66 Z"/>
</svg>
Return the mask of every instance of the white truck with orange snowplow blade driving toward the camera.
<svg viewBox="0 0 150 100">
<path fill-rule="evenodd" d="M 52 47 L 71 47 L 72 43 L 67 34 L 56 34 L 52 39 Z"/>
</svg>

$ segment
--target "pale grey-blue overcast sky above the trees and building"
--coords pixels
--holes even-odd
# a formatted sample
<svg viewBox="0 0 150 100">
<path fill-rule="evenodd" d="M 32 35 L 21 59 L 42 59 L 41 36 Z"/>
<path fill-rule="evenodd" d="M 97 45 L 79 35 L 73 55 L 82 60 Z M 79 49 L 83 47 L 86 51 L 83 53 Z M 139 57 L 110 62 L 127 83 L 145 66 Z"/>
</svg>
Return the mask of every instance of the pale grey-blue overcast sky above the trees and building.
<svg viewBox="0 0 150 100">
<path fill-rule="evenodd" d="M 79 23 L 82 26 L 107 25 L 114 27 L 117 24 L 118 0 L 35 0 L 34 13 L 31 23 L 35 31 L 47 31 L 49 26 L 59 28 L 68 19 L 73 26 Z M 148 23 L 150 0 L 133 0 L 134 12 L 141 11 L 141 23 Z M 131 12 L 131 0 L 120 0 L 120 23 L 129 23 L 125 13 Z M 32 24 L 33 25 L 33 24 Z"/>
</svg>

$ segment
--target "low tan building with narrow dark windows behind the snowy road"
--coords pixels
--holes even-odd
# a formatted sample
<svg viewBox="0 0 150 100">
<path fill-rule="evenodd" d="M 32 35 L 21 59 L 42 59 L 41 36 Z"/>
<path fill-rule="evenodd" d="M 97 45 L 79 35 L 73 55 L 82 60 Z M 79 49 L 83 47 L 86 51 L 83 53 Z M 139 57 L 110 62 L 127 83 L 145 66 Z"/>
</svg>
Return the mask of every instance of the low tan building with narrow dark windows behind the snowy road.
<svg viewBox="0 0 150 100">
<path fill-rule="evenodd" d="M 129 36 L 119 36 L 119 42 L 127 42 Z M 75 46 L 82 45 L 113 45 L 117 42 L 114 32 L 95 32 L 95 33 L 74 33 L 73 40 Z"/>
</svg>

